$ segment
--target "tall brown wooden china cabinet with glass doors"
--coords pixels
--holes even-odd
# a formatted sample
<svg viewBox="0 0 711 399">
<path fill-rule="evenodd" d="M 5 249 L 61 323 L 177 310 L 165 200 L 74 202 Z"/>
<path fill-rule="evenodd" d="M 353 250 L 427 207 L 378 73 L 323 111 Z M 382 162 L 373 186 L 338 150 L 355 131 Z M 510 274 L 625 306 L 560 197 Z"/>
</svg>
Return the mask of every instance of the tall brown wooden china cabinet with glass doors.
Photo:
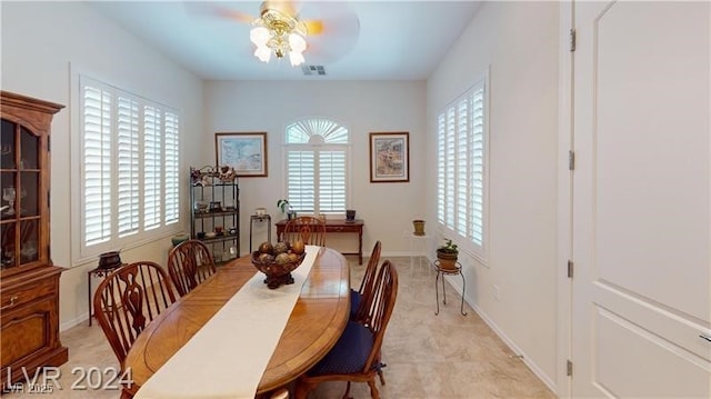
<svg viewBox="0 0 711 399">
<path fill-rule="evenodd" d="M 59 276 L 50 259 L 50 124 L 63 106 L 0 92 L 0 365 L 2 385 L 67 362 Z"/>
</svg>

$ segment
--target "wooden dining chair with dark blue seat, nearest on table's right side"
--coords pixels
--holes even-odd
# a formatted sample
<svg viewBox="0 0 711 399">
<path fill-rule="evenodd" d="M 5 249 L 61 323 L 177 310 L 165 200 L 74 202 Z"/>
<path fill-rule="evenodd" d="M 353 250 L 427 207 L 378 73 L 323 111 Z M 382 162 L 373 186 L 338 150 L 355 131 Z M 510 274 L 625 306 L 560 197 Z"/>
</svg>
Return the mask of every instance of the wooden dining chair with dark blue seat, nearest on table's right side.
<svg viewBox="0 0 711 399">
<path fill-rule="evenodd" d="M 313 368 L 299 377 L 296 398 L 306 399 L 311 390 L 323 381 L 347 381 L 347 398 L 351 382 L 368 382 L 370 396 L 380 398 L 375 387 L 375 376 L 380 383 L 385 380 L 381 369 L 380 349 L 390 321 L 398 296 L 398 272 L 389 260 L 385 260 L 375 277 L 370 296 L 363 297 L 363 306 L 368 309 L 364 320 L 349 321 L 336 346 Z"/>
</svg>

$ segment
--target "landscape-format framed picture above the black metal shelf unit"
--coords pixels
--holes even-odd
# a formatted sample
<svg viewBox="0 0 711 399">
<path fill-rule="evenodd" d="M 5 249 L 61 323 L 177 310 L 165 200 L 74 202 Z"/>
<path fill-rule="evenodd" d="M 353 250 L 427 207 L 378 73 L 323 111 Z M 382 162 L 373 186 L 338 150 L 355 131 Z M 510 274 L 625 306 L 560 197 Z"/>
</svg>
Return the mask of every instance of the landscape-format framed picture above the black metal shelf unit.
<svg viewBox="0 0 711 399">
<path fill-rule="evenodd" d="M 234 168 L 238 177 L 267 177 L 267 133 L 214 133 L 219 167 Z"/>
</svg>

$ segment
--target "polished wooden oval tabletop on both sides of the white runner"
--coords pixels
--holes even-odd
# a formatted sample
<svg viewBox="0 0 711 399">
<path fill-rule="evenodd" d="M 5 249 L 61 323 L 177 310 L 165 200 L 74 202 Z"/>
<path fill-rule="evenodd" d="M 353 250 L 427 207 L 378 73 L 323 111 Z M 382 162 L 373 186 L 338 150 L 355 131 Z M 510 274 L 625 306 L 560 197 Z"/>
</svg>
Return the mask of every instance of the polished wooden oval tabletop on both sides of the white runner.
<svg viewBox="0 0 711 399">
<path fill-rule="evenodd" d="M 132 398 L 141 385 L 186 345 L 254 272 L 257 269 L 251 263 L 251 256 L 234 259 L 219 267 L 217 273 L 151 321 L 126 358 L 123 369 L 131 370 L 133 383 L 123 387 L 121 397 Z M 264 289 L 268 289 L 266 285 Z M 346 328 L 349 312 L 348 261 L 338 251 L 321 248 L 262 375 L 257 395 L 288 385 L 323 358 Z M 214 348 L 219 350 L 220 346 Z"/>
</svg>

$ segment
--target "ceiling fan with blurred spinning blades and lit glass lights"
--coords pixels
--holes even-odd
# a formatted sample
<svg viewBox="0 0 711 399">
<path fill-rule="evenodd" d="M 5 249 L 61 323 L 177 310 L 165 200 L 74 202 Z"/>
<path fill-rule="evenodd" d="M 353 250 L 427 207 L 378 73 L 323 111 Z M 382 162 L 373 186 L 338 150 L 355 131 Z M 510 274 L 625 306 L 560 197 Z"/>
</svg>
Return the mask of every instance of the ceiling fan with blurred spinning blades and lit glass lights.
<svg viewBox="0 0 711 399">
<path fill-rule="evenodd" d="M 228 4 L 211 6 L 213 13 L 250 24 L 254 56 L 264 62 L 272 54 L 288 56 L 292 66 L 304 62 L 304 56 L 310 63 L 332 62 L 358 42 L 360 21 L 347 1 L 267 0 L 258 16 Z"/>
</svg>

